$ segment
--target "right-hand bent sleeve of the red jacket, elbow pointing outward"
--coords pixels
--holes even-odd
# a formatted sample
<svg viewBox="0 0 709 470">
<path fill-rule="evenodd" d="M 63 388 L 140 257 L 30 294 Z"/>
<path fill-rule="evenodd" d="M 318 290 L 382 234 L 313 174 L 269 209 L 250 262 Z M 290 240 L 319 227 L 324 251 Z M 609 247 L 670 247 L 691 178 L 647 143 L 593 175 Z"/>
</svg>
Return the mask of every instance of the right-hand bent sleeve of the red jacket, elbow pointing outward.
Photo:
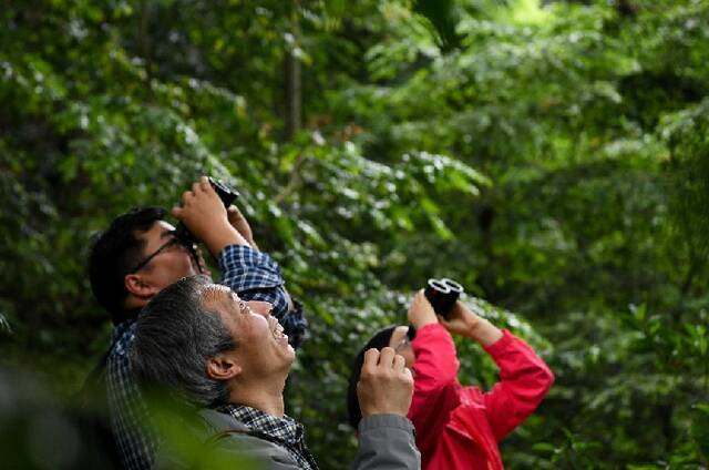
<svg viewBox="0 0 709 470">
<path fill-rule="evenodd" d="M 500 441 L 542 402 L 554 375 L 530 345 L 507 330 L 485 350 L 500 367 L 500 381 L 484 394 L 487 419 Z"/>
</svg>

